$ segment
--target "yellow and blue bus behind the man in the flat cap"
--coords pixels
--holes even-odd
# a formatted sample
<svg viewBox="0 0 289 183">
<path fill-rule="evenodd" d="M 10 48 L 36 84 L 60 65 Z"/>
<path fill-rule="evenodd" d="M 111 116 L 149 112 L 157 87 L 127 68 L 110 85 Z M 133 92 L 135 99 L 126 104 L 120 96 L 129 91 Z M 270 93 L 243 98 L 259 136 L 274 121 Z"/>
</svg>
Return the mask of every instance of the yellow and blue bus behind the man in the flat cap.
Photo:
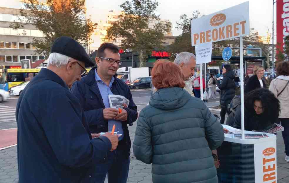
<svg viewBox="0 0 289 183">
<path fill-rule="evenodd" d="M 0 89 L 8 91 L 24 82 L 30 73 L 35 76 L 39 71 L 40 69 L 0 69 Z"/>
</svg>

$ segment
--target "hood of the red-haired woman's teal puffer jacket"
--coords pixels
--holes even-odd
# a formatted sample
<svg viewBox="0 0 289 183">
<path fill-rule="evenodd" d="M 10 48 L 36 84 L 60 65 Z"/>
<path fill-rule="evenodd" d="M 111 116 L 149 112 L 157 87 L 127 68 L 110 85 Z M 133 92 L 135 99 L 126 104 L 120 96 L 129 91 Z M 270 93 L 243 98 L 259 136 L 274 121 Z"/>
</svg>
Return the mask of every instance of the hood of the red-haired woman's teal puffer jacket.
<svg viewBox="0 0 289 183">
<path fill-rule="evenodd" d="M 191 95 L 179 87 L 162 88 L 151 96 L 150 105 L 162 110 L 173 110 L 183 107 Z"/>
</svg>

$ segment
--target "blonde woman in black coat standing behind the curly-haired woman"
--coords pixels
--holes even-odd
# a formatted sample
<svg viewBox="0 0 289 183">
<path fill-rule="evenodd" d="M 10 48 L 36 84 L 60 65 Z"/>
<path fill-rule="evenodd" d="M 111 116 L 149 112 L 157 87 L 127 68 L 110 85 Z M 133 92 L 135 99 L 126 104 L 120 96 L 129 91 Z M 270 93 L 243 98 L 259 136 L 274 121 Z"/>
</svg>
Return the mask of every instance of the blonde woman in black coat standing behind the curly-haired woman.
<svg viewBox="0 0 289 183">
<path fill-rule="evenodd" d="M 262 79 L 264 76 L 264 67 L 261 65 L 254 66 L 254 75 L 249 78 L 246 83 L 244 93 L 249 93 L 257 88 L 266 88 L 266 84 Z"/>
</svg>

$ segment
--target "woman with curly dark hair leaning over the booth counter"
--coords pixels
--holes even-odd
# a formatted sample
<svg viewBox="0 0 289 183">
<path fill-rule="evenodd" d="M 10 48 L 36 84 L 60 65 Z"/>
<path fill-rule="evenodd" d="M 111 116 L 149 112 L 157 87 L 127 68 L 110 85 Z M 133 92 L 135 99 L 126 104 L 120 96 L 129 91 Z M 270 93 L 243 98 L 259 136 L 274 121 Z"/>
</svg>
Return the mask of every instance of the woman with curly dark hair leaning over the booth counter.
<svg viewBox="0 0 289 183">
<path fill-rule="evenodd" d="M 259 88 L 245 95 L 245 130 L 261 131 L 278 121 L 280 102 L 268 89 Z M 234 117 L 234 128 L 241 129 L 241 107 Z"/>
</svg>

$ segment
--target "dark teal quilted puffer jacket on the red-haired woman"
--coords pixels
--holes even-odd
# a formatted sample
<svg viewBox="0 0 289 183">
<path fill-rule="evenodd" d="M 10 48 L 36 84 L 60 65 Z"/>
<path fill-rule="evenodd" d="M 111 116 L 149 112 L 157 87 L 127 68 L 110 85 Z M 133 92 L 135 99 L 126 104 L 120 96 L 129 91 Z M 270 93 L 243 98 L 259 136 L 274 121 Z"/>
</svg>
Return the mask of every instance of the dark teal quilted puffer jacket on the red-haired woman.
<svg viewBox="0 0 289 183">
<path fill-rule="evenodd" d="M 163 88 L 138 117 L 133 152 L 153 163 L 154 183 L 217 183 L 211 150 L 223 140 L 223 127 L 202 100 Z"/>
</svg>

